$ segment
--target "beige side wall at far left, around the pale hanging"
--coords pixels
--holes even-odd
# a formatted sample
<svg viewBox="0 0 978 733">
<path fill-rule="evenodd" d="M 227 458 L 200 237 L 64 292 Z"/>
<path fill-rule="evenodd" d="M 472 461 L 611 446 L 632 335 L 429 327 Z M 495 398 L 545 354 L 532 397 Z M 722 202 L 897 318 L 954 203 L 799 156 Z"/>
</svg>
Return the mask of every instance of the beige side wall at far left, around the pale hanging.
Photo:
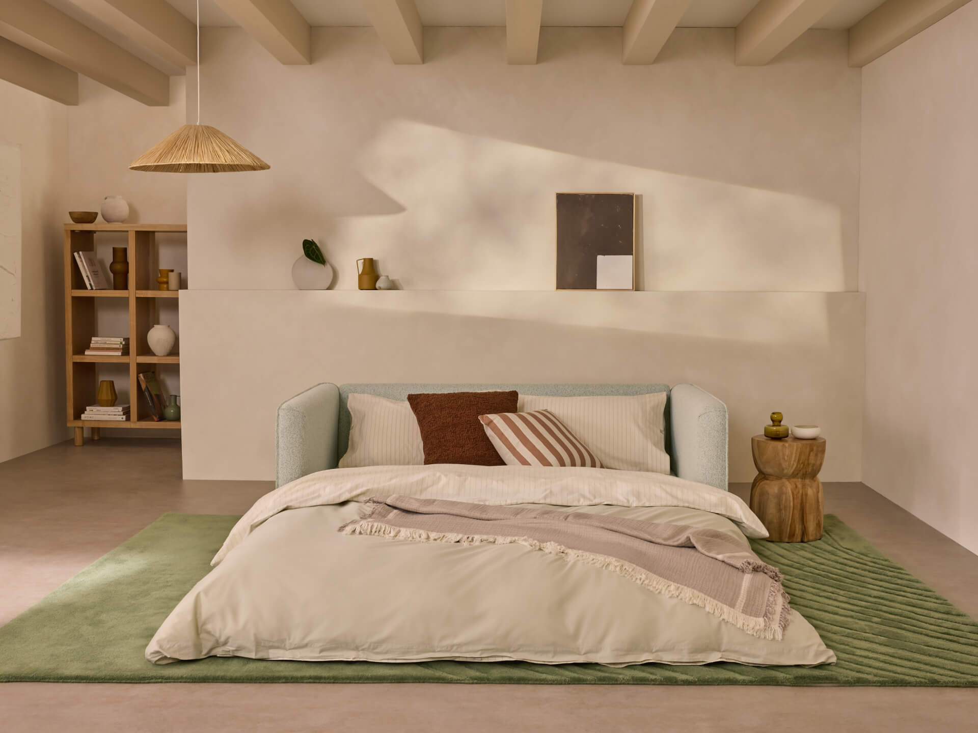
<svg viewBox="0 0 978 733">
<path fill-rule="evenodd" d="M 21 335 L 0 340 L 0 461 L 64 440 L 67 112 L 0 81 L 0 142 L 20 146 Z"/>
</svg>

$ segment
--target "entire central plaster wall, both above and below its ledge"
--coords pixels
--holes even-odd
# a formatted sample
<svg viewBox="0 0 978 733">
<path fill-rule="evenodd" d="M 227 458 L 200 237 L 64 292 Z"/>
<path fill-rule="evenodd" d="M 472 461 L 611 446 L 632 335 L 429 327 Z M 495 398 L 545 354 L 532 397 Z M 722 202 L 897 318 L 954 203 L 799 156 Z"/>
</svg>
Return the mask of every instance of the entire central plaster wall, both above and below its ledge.
<svg viewBox="0 0 978 733">
<path fill-rule="evenodd" d="M 272 168 L 189 180 L 185 476 L 271 478 L 275 407 L 319 381 L 690 380 L 731 407 L 733 481 L 772 410 L 859 480 L 863 300 L 832 291 L 858 282 L 860 70 L 842 32 L 757 68 L 733 40 L 680 29 L 625 66 L 620 28 L 545 28 L 510 66 L 502 28 L 425 28 L 398 66 L 371 28 L 314 28 L 287 66 L 205 29 L 201 121 Z M 557 191 L 641 194 L 660 292 L 554 292 Z M 304 237 L 336 287 L 373 256 L 406 291 L 292 290 Z"/>
</svg>

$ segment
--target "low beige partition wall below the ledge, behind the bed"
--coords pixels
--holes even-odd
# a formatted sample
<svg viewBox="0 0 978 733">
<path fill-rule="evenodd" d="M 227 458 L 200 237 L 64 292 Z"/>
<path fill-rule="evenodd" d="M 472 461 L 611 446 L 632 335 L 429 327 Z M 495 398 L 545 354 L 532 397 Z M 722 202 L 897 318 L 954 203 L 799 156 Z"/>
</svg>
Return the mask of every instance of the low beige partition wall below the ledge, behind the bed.
<svg viewBox="0 0 978 733">
<path fill-rule="evenodd" d="M 317 382 L 693 382 L 730 410 L 731 481 L 772 410 L 859 481 L 858 292 L 185 290 L 187 479 L 271 480 L 275 412 Z"/>
</svg>

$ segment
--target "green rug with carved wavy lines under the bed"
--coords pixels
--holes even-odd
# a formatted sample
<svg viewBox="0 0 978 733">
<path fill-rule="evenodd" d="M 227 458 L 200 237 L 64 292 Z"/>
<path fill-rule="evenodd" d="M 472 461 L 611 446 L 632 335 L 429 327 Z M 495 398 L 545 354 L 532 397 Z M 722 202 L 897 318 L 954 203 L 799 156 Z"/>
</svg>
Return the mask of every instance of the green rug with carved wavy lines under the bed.
<svg viewBox="0 0 978 733">
<path fill-rule="evenodd" d="M 835 651 L 835 665 L 608 668 L 230 658 L 150 664 L 143 651 L 157 626 L 210 570 L 210 558 L 237 519 L 164 514 L 0 627 L 0 681 L 978 686 L 978 623 L 831 515 L 820 541 L 753 545 L 784 573 L 791 605 Z"/>
</svg>

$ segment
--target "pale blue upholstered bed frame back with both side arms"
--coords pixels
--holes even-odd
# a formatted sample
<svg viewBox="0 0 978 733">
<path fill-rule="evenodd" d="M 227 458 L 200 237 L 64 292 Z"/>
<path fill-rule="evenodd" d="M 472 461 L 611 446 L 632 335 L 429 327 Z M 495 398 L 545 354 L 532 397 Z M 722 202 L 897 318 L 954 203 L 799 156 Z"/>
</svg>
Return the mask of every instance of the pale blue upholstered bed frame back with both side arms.
<svg viewBox="0 0 978 733">
<path fill-rule="evenodd" d="M 335 468 L 350 435 L 350 393 L 406 400 L 418 392 L 511 390 L 524 395 L 584 397 L 668 392 L 666 451 L 676 476 L 727 490 L 727 406 L 693 384 L 335 384 L 310 387 L 279 407 L 275 484 Z"/>
</svg>

